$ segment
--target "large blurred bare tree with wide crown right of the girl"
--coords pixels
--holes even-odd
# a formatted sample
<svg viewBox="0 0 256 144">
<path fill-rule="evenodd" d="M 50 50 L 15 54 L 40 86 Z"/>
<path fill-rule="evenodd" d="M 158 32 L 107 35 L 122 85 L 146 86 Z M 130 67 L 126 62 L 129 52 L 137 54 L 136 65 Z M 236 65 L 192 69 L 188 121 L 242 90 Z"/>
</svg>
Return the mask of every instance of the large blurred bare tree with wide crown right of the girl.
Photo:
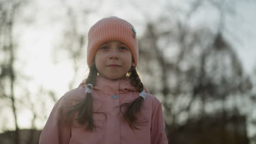
<svg viewBox="0 0 256 144">
<path fill-rule="evenodd" d="M 240 107 L 252 89 L 249 76 L 224 34 L 225 16 L 234 14 L 234 9 L 226 1 L 208 2 L 219 10 L 216 29 L 190 27 L 195 11 L 207 3 L 193 1 L 188 12 L 181 12 L 181 19 L 165 15 L 149 21 L 140 40 L 139 70 L 149 90 L 162 100 L 166 123 L 170 125 L 219 112 L 226 124 L 230 116 L 240 115 Z M 221 127 L 225 142 L 226 125 Z M 239 130 L 236 128 L 234 135 L 240 134 Z"/>
</svg>

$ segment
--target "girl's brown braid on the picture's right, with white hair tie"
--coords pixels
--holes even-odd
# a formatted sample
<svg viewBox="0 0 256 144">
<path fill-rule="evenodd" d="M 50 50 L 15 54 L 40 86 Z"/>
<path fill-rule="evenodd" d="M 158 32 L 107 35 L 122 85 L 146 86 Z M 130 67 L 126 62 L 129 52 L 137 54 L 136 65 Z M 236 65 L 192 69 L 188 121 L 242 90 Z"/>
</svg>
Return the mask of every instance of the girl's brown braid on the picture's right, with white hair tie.
<svg viewBox="0 0 256 144">
<path fill-rule="evenodd" d="M 141 82 L 141 79 L 139 79 L 139 75 L 135 67 L 131 68 L 130 78 L 131 78 L 131 85 L 134 86 L 139 93 L 141 93 L 144 87 L 143 87 L 143 83 Z M 141 122 L 138 122 L 136 114 L 139 111 L 141 111 L 143 100 L 144 99 L 142 97 L 138 97 L 137 99 L 131 101 L 130 103 L 122 104 L 119 108 L 122 113 L 123 111 L 121 110 L 121 108 L 123 106 L 126 108 L 125 112 L 123 113 L 123 118 L 132 129 L 138 129 L 137 126 L 142 125 Z"/>
</svg>

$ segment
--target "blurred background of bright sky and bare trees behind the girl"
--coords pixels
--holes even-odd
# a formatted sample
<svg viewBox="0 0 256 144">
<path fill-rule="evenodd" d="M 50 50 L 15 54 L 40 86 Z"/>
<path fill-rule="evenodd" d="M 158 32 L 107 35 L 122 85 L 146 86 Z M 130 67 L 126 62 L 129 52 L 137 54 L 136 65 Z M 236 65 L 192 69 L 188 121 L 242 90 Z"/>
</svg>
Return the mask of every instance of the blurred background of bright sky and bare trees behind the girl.
<svg viewBox="0 0 256 144">
<path fill-rule="evenodd" d="M 0 0 L 0 143 L 38 143 L 56 101 L 87 76 L 87 33 L 132 23 L 138 70 L 169 143 L 256 143 L 256 1 Z"/>
</svg>

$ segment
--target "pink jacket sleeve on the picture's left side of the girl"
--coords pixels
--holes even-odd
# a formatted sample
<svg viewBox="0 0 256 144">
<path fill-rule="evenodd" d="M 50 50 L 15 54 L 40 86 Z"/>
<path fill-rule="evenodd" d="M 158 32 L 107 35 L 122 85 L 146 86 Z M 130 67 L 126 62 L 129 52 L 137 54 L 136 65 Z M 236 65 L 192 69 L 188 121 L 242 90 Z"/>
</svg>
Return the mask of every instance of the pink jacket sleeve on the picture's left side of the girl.
<svg viewBox="0 0 256 144">
<path fill-rule="evenodd" d="M 68 144 L 71 137 L 71 128 L 59 122 L 59 108 L 65 104 L 62 96 L 54 105 L 53 110 L 40 134 L 39 144 Z"/>
</svg>

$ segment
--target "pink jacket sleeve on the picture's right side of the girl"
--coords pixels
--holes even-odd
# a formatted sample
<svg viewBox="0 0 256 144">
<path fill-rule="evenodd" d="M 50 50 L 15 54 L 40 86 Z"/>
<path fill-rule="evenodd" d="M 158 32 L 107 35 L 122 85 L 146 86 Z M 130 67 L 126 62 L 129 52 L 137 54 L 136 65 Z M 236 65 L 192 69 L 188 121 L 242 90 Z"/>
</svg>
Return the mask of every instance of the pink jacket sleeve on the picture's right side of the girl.
<svg viewBox="0 0 256 144">
<path fill-rule="evenodd" d="M 153 113 L 151 119 L 151 144 L 167 144 L 167 131 L 162 113 L 162 105 L 159 100 L 153 105 Z"/>
</svg>

